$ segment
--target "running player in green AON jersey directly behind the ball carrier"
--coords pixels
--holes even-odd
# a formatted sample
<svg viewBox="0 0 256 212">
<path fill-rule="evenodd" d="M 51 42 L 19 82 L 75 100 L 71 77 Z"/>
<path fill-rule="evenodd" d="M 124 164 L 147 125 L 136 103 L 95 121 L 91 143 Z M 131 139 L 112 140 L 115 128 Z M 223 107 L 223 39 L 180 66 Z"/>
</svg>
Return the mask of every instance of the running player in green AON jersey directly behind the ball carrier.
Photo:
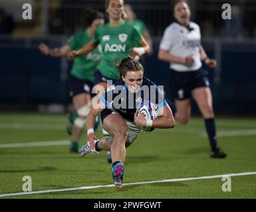
<svg viewBox="0 0 256 212">
<path fill-rule="evenodd" d="M 128 54 L 136 57 L 137 60 L 143 54 L 148 54 L 151 48 L 145 38 L 134 28 L 122 20 L 124 14 L 124 1 L 106 0 L 106 13 L 109 23 L 97 28 L 94 39 L 80 48 L 68 53 L 68 59 L 73 60 L 84 54 L 88 54 L 100 44 L 102 46 L 102 57 L 98 70 L 94 72 L 94 89 L 100 96 L 109 86 L 107 80 L 112 83 L 120 79 L 118 70 L 113 64 L 116 58 L 126 58 Z M 103 134 L 107 132 L 102 129 Z M 111 156 L 108 155 L 108 162 Z"/>
</svg>

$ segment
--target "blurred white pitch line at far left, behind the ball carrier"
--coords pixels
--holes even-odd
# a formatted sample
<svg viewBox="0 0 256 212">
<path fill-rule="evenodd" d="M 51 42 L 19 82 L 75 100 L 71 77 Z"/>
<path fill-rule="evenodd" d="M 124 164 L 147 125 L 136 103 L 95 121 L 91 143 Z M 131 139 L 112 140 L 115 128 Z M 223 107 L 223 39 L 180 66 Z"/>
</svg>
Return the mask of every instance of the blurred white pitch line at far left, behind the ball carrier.
<svg viewBox="0 0 256 212">
<path fill-rule="evenodd" d="M 0 148 L 20 148 L 20 147 L 28 147 L 28 146 L 61 146 L 61 145 L 69 145 L 69 144 L 70 144 L 69 140 L 54 140 L 54 141 L 0 144 Z"/>
</svg>

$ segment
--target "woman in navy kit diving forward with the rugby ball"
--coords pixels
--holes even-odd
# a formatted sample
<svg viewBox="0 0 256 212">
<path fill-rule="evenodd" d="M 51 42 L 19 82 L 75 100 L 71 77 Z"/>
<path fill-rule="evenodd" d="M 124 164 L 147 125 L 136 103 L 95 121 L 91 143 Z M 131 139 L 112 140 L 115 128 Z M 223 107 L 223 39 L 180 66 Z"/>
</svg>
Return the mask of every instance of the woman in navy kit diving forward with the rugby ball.
<svg viewBox="0 0 256 212">
<path fill-rule="evenodd" d="M 98 99 L 98 106 L 100 107 L 92 105 L 92 109 L 86 118 L 88 143 L 82 146 L 80 155 L 84 156 L 88 152 L 95 153 L 100 150 L 111 150 L 114 185 L 122 187 L 126 148 L 138 137 L 142 127 L 172 128 L 174 127 L 174 117 L 164 99 L 164 93 L 152 81 L 144 78 L 144 68 L 140 62 L 132 57 L 127 57 L 121 60 L 120 64 L 116 60 L 115 64 L 120 71 L 122 80 L 116 81 L 113 89 L 107 90 L 102 94 Z M 148 95 L 146 95 L 147 92 L 142 92 L 142 90 L 145 91 L 146 89 L 148 89 Z M 121 93 L 119 92 L 120 90 Z M 121 105 L 118 103 L 119 96 L 124 98 L 124 103 Z M 138 109 L 140 104 L 147 101 L 154 103 L 158 107 L 160 113 L 158 119 L 146 121 L 144 115 Z M 116 105 L 118 106 L 116 107 Z M 110 136 L 104 136 L 98 141 L 94 134 L 93 126 L 95 117 L 99 113 L 101 113 L 102 125 Z M 141 174 L 145 173 L 141 172 Z"/>
</svg>

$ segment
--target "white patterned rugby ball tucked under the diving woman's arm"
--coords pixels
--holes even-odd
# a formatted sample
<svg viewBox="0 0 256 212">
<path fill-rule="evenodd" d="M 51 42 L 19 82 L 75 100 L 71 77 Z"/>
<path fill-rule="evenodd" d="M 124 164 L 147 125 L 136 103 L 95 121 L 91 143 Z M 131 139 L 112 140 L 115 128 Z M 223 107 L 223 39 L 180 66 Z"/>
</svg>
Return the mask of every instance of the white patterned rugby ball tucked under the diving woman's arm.
<svg viewBox="0 0 256 212">
<path fill-rule="evenodd" d="M 152 102 L 142 102 L 140 105 L 140 112 L 144 115 L 146 120 L 158 119 L 158 107 Z M 142 127 L 146 132 L 154 131 L 154 127 Z"/>
</svg>

